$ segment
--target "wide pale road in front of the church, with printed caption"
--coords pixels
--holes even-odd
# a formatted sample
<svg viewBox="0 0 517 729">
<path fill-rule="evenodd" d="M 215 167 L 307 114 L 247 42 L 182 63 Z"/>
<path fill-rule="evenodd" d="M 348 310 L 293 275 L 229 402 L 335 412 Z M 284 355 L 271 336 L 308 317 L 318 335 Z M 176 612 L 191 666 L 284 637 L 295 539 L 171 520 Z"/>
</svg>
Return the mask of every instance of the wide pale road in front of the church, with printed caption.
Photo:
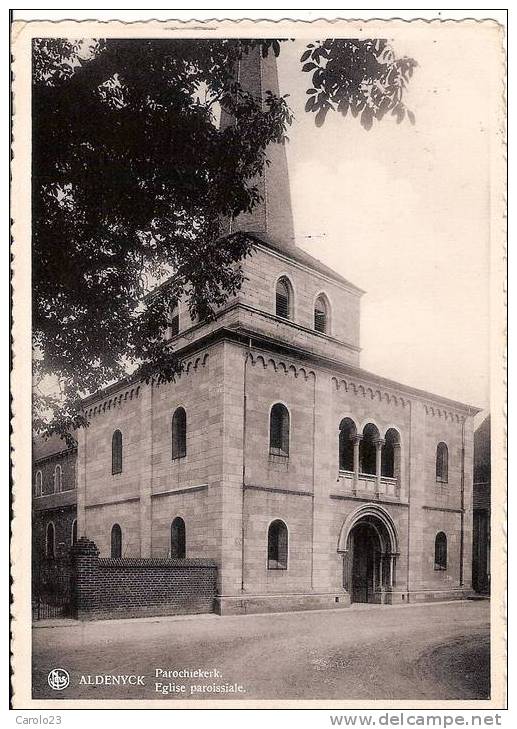
<svg viewBox="0 0 517 729">
<path fill-rule="evenodd" d="M 488 698 L 489 603 L 38 626 L 33 651 L 35 698 Z M 55 667 L 71 677 L 59 693 L 47 685 Z M 156 669 L 220 675 L 155 678 Z M 85 685 L 83 674 L 140 674 L 146 685 Z M 156 681 L 185 693 L 158 693 Z"/>
</svg>

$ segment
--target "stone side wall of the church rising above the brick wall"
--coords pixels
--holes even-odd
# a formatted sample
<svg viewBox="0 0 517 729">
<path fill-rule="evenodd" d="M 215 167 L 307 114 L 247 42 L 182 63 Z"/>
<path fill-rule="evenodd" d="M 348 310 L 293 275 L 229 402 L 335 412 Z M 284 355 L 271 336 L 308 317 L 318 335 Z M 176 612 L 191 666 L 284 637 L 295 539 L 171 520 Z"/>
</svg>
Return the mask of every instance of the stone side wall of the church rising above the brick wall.
<svg viewBox="0 0 517 729">
<path fill-rule="evenodd" d="M 185 363 L 168 384 L 132 386 L 90 406 L 90 427 L 79 433 L 79 534 L 110 556 L 114 523 L 123 557 L 167 557 L 170 526 L 186 523 L 187 555 L 217 558 L 221 543 L 220 490 L 222 345 Z M 173 459 L 172 415 L 187 416 L 187 452 Z M 93 409 L 93 412 L 92 412 Z M 111 473 L 111 438 L 123 435 L 123 470 Z"/>
</svg>

